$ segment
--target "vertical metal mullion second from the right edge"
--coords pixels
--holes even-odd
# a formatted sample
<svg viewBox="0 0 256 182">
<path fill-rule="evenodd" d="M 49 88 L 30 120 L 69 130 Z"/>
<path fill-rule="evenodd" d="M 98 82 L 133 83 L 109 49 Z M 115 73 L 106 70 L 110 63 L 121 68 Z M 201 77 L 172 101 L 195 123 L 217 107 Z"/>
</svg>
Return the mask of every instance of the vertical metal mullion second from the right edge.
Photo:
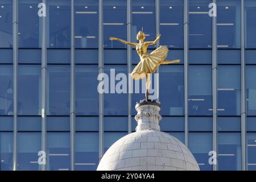
<svg viewBox="0 0 256 182">
<path fill-rule="evenodd" d="M 212 1 L 216 3 L 216 0 Z M 213 164 L 213 171 L 218 170 L 218 128 L 217 128 L 217 107 L 218 107 L 218 60 L 217 60 L 217 17 L 212 16 L 212 102 L 213 102 L 213 121 L 212 121 L 212 150 L 217 153 L 217 164 Z"/>
</svg>

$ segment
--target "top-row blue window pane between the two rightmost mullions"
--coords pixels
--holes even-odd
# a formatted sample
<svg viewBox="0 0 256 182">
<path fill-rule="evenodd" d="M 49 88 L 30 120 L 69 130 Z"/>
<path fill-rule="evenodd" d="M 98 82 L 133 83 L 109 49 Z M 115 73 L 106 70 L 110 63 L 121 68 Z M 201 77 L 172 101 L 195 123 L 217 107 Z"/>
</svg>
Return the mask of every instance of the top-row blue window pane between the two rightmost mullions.
<svg viewBox="0 0 256 182">
<path fill-rule="evenodd" d="M 217 43 L 219 48 L 241 47 L 241 1 L 217 1 Z"/>
</svg>

